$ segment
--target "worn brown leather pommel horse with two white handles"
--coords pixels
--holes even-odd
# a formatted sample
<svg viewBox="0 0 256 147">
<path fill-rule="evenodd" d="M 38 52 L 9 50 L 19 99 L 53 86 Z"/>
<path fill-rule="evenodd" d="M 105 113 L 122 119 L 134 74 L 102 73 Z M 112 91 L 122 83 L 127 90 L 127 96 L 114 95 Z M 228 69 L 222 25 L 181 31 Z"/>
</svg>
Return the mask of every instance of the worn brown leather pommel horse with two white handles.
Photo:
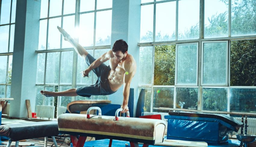
<svg viewBox="0 0 256 147">
<path fill-rule="evenodd" d="M 99 115 L 90 115 L 91 110 L 98 110 Z M 144 119 L 119 117 L 118 113 L 122 108 L 117 109 L 115 116 L 101 116 L 99 107 L 90 107 L 86 114 L 65 113 L 58 117 L 58 128 L 61 134 L 70 134 L 74 147 L 83 147 L 86 137 L 99 137 L 112 140 L 129 141 L 131 147 L 143 147 L 150 144 L 162 143 L 166 124 L 160 119 Z M 80 136 L 77 139 L 76 136 Z"/>
</svg>

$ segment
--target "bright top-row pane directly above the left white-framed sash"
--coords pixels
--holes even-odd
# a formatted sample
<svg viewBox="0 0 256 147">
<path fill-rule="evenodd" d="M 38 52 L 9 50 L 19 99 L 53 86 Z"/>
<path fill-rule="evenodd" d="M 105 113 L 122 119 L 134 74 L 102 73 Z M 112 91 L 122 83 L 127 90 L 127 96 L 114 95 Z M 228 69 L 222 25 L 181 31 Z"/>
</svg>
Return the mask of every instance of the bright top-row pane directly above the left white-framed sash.
<svg viewBox="0 0 256 147">
<path fill-rule="evenodd" d="M 178 40 L 199 38 L 199 0 L 180 0 Z"/>
</svg>

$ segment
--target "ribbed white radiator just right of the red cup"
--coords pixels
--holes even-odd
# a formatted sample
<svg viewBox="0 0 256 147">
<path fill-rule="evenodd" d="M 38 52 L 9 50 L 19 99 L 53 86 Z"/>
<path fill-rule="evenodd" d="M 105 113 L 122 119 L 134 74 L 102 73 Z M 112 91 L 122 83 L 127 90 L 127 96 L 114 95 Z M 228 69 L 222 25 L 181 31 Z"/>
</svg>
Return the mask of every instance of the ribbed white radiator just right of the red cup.
<svg viewBox="0 0 256 147">
<path fill-rule="evenodd" d="M 54 118 L 55 106 L 36 105 L 36 116 Z"/>
</svg>

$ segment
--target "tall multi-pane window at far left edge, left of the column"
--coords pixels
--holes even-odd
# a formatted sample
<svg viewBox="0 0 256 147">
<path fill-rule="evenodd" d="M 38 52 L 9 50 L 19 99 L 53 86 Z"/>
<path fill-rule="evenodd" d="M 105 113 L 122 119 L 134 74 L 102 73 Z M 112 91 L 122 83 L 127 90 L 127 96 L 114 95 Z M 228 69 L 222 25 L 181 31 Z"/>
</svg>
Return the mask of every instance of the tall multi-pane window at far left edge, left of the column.
<svg viewBox="0 0 256 147">
<path fill-rule="evenodd" d="M 16 0 L 0 1 L 0 98 L 10 98 Z"/>
</svg>

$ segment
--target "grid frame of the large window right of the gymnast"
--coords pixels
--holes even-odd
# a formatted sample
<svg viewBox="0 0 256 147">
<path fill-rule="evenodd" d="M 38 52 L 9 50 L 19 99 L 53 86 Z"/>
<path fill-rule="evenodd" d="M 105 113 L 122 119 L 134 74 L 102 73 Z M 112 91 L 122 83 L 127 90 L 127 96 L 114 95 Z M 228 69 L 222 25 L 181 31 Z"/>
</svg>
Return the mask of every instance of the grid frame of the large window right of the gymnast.
<svg viewBox="0 0 256 147">
<path fill-rule="evenodd" d="M 168 1 L 173 1 L 173 0 L 162 0 L 162 1 L 152 1 L 152 2 L 148 2 L 148 3 L 142 3 L 142 5 L 148 5 L 148 4 L 153 4 L 155 5 L 156 3 L 164 3 L 164 2 L 168 2 Z M 174 0 L 175 1 L 175 0 Z M 176 0 L 176 6 L 178 6 L 178 1 Z M 253 88 L 256 89 L 255 86 L 230 86 L 230 45 L 231 45 L 231 41 L 233 40 L 252 40 L 252 39 L 256 39 L 256 35 L 247 35 L 247 36 L 232 36 L 231 35 L 231 0 L 228 1 L 228 37 L 209 37 L 209 38 L 204 38 L 204 0 L 200 0 L 200 11 L 199 11 L 199 39 L 191 39 L 191 40 L 177 40 L 177 16 L 176 16 L 176 40 L 174 41 L 159 41 L 159 42 L 155 42 L 154 38 L 155 38 L 155 30 L 153 31 L 153 41 L 152 42 L 143 42 L 143 43 L 138 43 L 139 47 L 147 47 L 147 46 L 153 46 L 153 61 L 152 61 L 152 81 L 151 84 L 149 85 L 138 85 L 138 88 L 151 88 L 151 108 L 150 108 L 150 112 L 154 112 L 155 110 L 167 110 L 167 108 L 153 108 L 153 88 L 154 87 L 174 87 L 174 107 L 176 108 L 176 87 L 184 87 L 184 86 L 180 86 L 180 85 L 175 85 L 175 86 L 155 86 L 153 81 L 154 81 L 154 51 L 155 51 L 155 47 L 154 46 L 160 46 L 160 45 L 173 45 L 173 44 L 180 44 L 180 43 L 198 43 L 198 86 L 195 87 L 191 87 L 191 86 L 185 86 L 186 88 L 191 87 L 191 88 L 198 88 L 198 110 L 202 110 L 203 104 L 202 104 L 202 88 L 208 88 L 208 87 L 213 87 L 213 88 L 228 88 L 228 107 L 227 107 L 227 112 L 230 112 L 230 89 L 233 87 L 238 87 L 238 88 Z M 155 9 L 155 7 L 154 7 Z M 178 9 L 178 7 L 176 7 L 176 10 Z M 177 15 L 177 13 L 176 13 Z M 154 28 L 155 28 L 155 11 L 154 11 Z M 201 84 L 202 83 L 202 42 L 207 42 L 207 41 L 224 41 L 227 42 L 227 54 L 226 54 L 226 84 L 223 85 L 204 85 Z M 175 59 L 176 60 L 176 59 Z M 176 66 L 176 65 L 175 65 Z M 176 76 L 176 75 L 175 75 Z M 176 79 L 176 77 L 175 77 Z M 176 83 L 176 82 L 175 82 Z M 173 109 L 170 108 L 170 109 Z"/>
</svg>

